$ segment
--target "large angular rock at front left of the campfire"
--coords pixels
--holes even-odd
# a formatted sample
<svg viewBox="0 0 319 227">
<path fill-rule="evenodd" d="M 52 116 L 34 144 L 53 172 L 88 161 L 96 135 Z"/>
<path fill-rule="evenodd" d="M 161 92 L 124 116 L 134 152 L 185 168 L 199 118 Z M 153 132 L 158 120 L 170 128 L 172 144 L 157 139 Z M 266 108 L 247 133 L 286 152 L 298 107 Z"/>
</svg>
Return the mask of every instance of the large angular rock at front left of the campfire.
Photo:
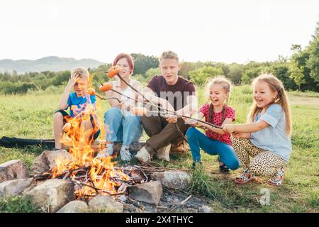
<svg viewBox="0 0 319 227">
<path fill-rule="evenodd" d="M 48 179 L 23 194 L 34 206 L 50 212 L 58 211 L 75 197 L 73 182 L 64 179 Z"/>
</svg>

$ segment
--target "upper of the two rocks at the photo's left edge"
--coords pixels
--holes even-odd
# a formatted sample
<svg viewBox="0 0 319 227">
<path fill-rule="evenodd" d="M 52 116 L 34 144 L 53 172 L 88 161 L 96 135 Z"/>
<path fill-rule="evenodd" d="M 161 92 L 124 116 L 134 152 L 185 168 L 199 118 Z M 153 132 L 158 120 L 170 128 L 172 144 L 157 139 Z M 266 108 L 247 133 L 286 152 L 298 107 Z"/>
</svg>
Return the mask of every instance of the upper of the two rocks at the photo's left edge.
<svg viewBox="0 0 319 227">
<path fill-rule="evenodd" d="M 11 160 L 0 165 L 0 183 L 11 179 L 22 179 L 28 177 L 28 169 L 21 160 Z"/>
</svg>

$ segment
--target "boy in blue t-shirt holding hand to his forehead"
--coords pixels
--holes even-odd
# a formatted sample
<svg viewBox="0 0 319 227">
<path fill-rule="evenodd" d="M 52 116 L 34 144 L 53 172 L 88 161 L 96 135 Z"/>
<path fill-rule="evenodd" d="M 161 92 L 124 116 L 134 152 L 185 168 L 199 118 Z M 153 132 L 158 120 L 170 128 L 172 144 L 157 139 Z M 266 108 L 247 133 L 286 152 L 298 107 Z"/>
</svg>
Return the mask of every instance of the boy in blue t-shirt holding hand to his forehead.
<svg viewBox="0 0 319 227">
<path fill-rule="evenodd" d="M 56 150 L 62 149 L 63 126 L 67 122 L 72 122 L 73 119 L 72 124 L 78 123 L 79 127 L 84 127 L 86 143 L 93 142 L 99 136 L 99 124 L 95 114 L 96 97 L 87 94 L 86 90 L 88 86 L 89 72 L 84 68 L 73 70 L 71 79 L 69 79 L 67 87 L 65 87 L 65 91 L 60 98 L 59 110 L 53 115 Z M 70 93 L 72 87 L 74 92 Z M 94 109 L 89 110 L 90 106 L 94 106 Z M 70 108 L 69 114 L 65 111 L 68 108 Z M 88 118 L 85 118 L 81 113 L 88 110 L 90 115 Z"/>
</svg>

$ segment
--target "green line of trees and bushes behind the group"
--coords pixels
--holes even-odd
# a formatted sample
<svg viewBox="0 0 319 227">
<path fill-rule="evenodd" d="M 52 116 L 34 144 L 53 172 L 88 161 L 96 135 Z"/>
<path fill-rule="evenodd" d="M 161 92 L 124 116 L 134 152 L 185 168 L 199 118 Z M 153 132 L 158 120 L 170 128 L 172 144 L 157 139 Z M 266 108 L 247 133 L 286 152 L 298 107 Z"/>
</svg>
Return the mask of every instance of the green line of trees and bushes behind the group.
<svg viewBox="0 0 319 227">
<path fill-rule="evenodd" d="M 233 84 L 250 84 L 252 79 L 262 72 L 269 72 L 281 79 L 287 90 L 319 92 L 319 22 L 310 43 L 301 48 L 301 45 L 291 45 L 291 57 L 278 57 L 272 62 L 254 62 L 245 64 L 225 64 L 223 62 L 181 62 L 179 74 L 191 80 L 196 85 L 203 85 L 207 79 L 223 74 Z M 152 76 L 160 74 L 157 57 L 131 54 L 135 68 L 133 77 L 146 84 Z M 111 64 L 105 64 L 96 69 L 88 69 L 92 77 L 92 84 L 98 87 L 106 82 L 106 71 Z M 70 77 L 69 70 L 61 72 L 27 72 L 17 74 L 0 73 L 0 93 L 24 94 L 28 90 L 45 90 L 49 87 L 58 87 L 67 84 Z"/>
</svg>

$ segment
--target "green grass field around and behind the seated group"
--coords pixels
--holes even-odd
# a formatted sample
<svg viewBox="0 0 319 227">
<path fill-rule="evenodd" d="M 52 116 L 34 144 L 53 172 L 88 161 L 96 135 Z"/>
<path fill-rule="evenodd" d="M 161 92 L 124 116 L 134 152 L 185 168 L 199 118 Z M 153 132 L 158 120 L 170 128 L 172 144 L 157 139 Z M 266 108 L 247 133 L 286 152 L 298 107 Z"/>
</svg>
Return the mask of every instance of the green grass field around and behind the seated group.
<svg viewBox="0 0 319 227">
<path fill-rule="evenodd" d="M 249 111 L 252 92 L 250 87 L 233 88 L 229 105 L 235 108 L 237 123 L 244 123 Z M 190 190 L 206 196 L 216 212 L 318 212 L 319 211 L 319 94 L 289 92 L 293 113 L 293 152 L 286 166 L 284 183 L 279 188 L 267 184 L 236 185 L 233 182 L 240 170 L 230 175 L 218 173 L 216 157 L 203 155 L 203 170 L 193 172 Z M 23 96 L 0 96 L 0 138 L 53 138 L 52 114 L 57 108 L 60 94 L 31 92 Z M 200 104 L 206 101 L 198 89 Z M 108 105 L 98 103 L 99 116 Z M 102 122 L 102 121 L 101 121 Z M 0 147 L 0 163 L 21 159 L 30 167 L 35 157 L 44 148 Z M 172 161 L 159 162 L 168 167 L 191 167 L 191 155 L 172 157 Z M 268 191 L 269 190 L 269 191 Z M 260 199 L 269 192 L 269 205 Z M 23 209 L 16 209 L 23 206 Z M 12 208 L 13 207 L 13 208 Z M 26 211 L 30 204 L 23 205 L 16 199 L 1 200 L 0 212 Z"/>
</svg>

